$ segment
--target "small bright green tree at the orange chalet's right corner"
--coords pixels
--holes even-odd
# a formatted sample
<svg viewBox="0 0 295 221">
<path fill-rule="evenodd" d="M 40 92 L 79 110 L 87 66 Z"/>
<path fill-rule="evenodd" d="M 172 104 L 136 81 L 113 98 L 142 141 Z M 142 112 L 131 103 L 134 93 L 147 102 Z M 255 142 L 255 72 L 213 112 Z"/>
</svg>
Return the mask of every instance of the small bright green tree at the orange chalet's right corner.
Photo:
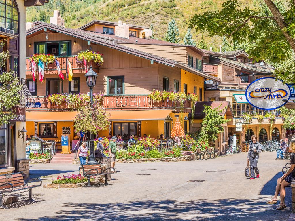
<svg viewBox="0 0 295 221">
<path fill-rule="evenodd" d="M 210 106 L 204 105 L 205 117 L 202 122 L 201 132 L 199 138 L 204 141 L 215 141 L 218 138 L 218 133 L 223 132 L 222 124 L 231 121 L 231 119 L 224 119 L 220 113 L 223 109 L 220 109 L 221 105 L 217 108 L 211 108 Z"/>
</svg>

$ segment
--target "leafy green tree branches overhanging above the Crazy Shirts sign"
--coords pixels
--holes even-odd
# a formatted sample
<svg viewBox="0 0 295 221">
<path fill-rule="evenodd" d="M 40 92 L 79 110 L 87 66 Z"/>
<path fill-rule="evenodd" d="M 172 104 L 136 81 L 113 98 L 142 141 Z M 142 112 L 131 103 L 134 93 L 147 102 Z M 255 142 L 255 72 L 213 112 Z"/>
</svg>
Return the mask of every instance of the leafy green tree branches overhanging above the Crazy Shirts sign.
<svg viewBox="0 0 295 221">
<path fill-rule="evenodd" d="M 254 9 L 238 4 L 237 0 L 227 0 L 222 9 L 196 14 L 191 19 L 191 27 L 197 31 L 235 39 L 237 44 L 250 42 L 254 46 L 248 50 L 256 61 L 267 60 L 278 64 L 275 75 L 286 83 L 295 83 L 295 62 L 282 68 L 295 52 L 295 1 L 286 7 L 280 0 L 264 0 Z"/>
</svg>

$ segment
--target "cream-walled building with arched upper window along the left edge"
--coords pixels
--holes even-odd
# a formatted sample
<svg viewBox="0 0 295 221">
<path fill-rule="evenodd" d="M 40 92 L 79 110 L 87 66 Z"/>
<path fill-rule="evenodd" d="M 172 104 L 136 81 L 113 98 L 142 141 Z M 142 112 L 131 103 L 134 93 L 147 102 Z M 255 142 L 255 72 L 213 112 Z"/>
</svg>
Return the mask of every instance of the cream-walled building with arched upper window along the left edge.
<svg viewBox="0 0 295 221">
<path fill-rule="evenodd" d="M 0 41 L 5 41 L 1 51 L 9 51 L 6 66 L 0 68 L 0 74 L 14 70 L 19 77 L 22 90 L 19 92 L 19 105 L 14 107 L 16 117 L 0 127 L 0 174 L 22 171 L 29 174 L 29 161 L 26 159 L 25 142 L 22 133 L 26 127 L 25 107 L 32 99 L 26 87 L 26 7 L 41 6 L 47 0 L 2 0 L 0 1 Z M 24 137 L 25 139 L 25 137 Z"/>
</svg>

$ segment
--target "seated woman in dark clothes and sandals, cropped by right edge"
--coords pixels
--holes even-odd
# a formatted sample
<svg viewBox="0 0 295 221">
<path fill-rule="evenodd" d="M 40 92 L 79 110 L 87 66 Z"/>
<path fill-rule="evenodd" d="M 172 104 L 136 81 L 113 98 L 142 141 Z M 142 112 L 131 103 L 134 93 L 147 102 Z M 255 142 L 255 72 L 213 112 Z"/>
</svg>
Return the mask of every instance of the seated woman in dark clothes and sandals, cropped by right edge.
<svg viewBox="0 0 295 221">
<path fill-rule="evenodd" d="M 295 141 L 291 141 L 290 149 L 293 153 L 295 152 Z M 278 178 L 277 185 L 276 185 L 276 192 L 275 192 L 273 198 L 271 198 L 271 200 L 269 200 L 267 202 L 267 204 L 276 204 L 278 201 L 278 194 L 280 193 L 281 203 L 278 206 L 278 208 L 276 208 L 277 210 L 283 210 L 286 208 L 285 187 L 289 186 L 290 183 L 293 180 L 295 180 L 295 154 L 293 154 L 293 156 L 291 157 L 290 164 L 291 164 L 290 168 L 286 171 L 286 173 L 283 175 L 283 177 Z"/>
</svg>

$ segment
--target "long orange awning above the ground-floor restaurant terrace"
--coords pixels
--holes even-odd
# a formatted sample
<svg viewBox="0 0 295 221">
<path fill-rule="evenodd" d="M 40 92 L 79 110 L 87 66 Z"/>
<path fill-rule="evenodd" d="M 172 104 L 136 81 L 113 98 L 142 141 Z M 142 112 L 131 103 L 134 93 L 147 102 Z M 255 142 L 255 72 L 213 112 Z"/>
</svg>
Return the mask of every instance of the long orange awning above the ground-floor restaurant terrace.
<svg viewBox="0 0 295 221">
<path fill-rule="evenodd" d="M 172 112 L 168 110 L 111 110 L 106 111 L 111 115 L 111 121 L 151 121 L 165 120 Z M 73 121 L 77 111 L 40 111 L 26 112 L 26 121 L 52 122 L 52 121 Z"/>
</svg>

